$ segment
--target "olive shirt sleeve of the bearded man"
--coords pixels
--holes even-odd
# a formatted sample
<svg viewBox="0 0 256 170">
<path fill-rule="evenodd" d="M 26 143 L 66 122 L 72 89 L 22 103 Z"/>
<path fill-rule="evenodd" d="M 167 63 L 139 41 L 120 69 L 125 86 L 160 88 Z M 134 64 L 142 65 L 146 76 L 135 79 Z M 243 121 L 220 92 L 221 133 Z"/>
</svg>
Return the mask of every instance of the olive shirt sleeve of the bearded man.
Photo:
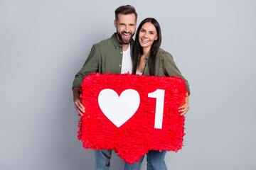
<svg viewBox="0 0 256 170">
<path fill-rule="evenodd" d="M 87 76 L 87 74 L 97 72 L 99 67 L 99 58 L 100 48 L 96 45 L 93 45 L 90 54 L 87 57 L 87 60 L 85 61 L 85 64 L 83 65 L 82 69 L 80 69 L 80 71 L 77 74 L 75 74 L 72 89 L 74 89 L 77 86 L 80 86 L 82 84 L 82 79 L 85 76 Z"/>
</svg>

